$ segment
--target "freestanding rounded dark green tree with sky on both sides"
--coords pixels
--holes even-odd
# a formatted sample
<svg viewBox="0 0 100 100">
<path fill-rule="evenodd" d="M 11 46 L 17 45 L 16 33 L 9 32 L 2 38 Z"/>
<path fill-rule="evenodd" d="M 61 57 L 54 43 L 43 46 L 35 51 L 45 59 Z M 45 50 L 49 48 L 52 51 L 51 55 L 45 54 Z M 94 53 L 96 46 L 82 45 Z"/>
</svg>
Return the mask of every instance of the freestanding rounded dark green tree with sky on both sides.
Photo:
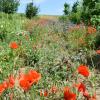
<svg viewBox="0 0 100 100">
<path fill-rule="evenodd" d="M 33 3 L 27 4 L 26 7 L 26 17 L 31 19 L 32 17 L 36 16 L 38 13 L 38 7 L 34 6 Z"/>
</svg>

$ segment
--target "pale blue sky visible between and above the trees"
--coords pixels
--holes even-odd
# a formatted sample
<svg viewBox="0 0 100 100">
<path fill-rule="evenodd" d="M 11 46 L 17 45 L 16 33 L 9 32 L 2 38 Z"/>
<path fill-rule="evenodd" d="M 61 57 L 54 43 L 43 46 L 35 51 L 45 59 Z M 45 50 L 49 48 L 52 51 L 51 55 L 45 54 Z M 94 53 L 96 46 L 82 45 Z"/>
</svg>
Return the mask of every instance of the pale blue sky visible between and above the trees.
<svg viewBox="0 0 100 100">
<path fill-rule="evenodd" d="M 27 3 L 32 0 L 20 0 L 19 13 L 24 13 Z M 71 6 L 77 0 L 33 0 L 34 4 L 39 7 L 40 15 L 62 15 L 64 3 Z"/>
</svg>

